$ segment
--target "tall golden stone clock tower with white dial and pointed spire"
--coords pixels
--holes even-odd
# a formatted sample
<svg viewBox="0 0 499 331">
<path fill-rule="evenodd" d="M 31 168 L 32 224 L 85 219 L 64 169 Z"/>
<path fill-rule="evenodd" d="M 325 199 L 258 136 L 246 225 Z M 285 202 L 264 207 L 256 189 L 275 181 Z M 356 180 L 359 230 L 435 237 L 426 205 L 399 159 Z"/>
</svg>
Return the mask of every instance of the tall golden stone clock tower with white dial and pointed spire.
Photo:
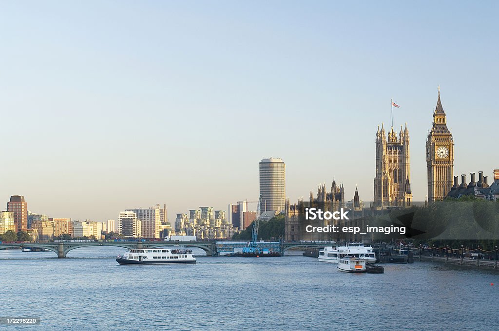
<svg viewBox="0 0 499 331">
<path fill-rule="evenodd" d="M 451 190 L 454 168 L 454 141 L 447 128 L 447 117 L 440 102 L 438 87 L 437 107 L 433 113 L 433 127 L 426 140 L 428 168 L 428 202 L 443 200 Z"/>
</svg>

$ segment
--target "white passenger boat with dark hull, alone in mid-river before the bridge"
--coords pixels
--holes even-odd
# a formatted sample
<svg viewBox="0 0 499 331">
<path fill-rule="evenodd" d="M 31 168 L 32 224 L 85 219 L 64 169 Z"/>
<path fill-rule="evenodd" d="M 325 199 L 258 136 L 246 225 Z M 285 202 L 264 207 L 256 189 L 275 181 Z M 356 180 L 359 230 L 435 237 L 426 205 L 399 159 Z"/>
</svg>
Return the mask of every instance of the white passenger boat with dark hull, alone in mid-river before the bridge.
<svg viewBox="0 0 499 331">
<path fill-rule="evenodd" d="M 133 248 L 123 256 L 118 255 L 119 264 L 193 264 L 196 258 L 190 249 Z"/>
</svg>

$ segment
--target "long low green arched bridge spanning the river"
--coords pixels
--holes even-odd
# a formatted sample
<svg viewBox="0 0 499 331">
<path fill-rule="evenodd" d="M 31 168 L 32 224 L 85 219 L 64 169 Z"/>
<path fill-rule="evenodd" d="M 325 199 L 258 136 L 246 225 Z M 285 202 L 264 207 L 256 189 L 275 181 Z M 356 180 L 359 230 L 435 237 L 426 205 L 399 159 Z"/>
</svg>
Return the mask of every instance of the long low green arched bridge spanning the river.
<svg viewBox="0 0 499 331">
<path fill-rule="evenodd" d="M 260 248 L 271 248 L 275 251 L 284 254 L 285 251 L 292 248 L 300 247 L 318 247 L 332 245 L 330 243 L 302 243 L 302 242 L 257 242 L 256 246 Z M 224 241 L 88 241 L 88 242 L 26 242 L 26 243 L 9 243 L 0 244 L 0 250 L 8 248 L 44 248 L 57 254 L 58 258 L 65 258 L 69 251 L 82 247 L 123 247 L 123 248 L 156 248 L 156 247 L 197 247 L 206 252 L 207 256 L 220 256 L 222 252 L 233 252 L 234 248 L 247 247 L 247 242 L 224 242 Z"/>
</svg>

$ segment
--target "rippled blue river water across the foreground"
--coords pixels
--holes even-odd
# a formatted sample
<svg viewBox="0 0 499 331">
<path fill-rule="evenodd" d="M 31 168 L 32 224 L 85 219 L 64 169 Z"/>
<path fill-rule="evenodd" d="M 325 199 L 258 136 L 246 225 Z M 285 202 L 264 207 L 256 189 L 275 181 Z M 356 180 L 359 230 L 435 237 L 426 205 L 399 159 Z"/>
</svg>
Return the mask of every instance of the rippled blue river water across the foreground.
<svg viewBox="0 0 499 331">
<path fill-rule="evenodd" d="M 80 248 L 57 259 L 53 252 L 0 251 L 0 317 L 41 318 L 23 330 L 499 328 L 494 270 L 416 262 L 384 264 L 379 275 L 347 274 L 301 252 L 119 266 L 114 258 L 123 252 Z"/>
</svg>

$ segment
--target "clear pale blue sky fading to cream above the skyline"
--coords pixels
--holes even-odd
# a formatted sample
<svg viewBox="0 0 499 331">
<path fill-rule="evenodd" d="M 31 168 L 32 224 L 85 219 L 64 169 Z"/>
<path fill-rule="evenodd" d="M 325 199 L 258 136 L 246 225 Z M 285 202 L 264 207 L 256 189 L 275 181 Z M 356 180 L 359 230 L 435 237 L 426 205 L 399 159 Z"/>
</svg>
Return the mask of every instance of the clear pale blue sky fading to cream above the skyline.
<svg viewBox="0 0 499 331">
<path fill-rule="evenodd" d="M 1 1 L 0 200 L 116 219 L 258 196 L 286 163 L 291 201 L 358 184 L 375 132 L 408 123 L 414 200 L 437 86 L 454 173 L 499 168 L 497 1 Z M 496 148 L 496 149 L 495 149 Z"/>
</svg>

